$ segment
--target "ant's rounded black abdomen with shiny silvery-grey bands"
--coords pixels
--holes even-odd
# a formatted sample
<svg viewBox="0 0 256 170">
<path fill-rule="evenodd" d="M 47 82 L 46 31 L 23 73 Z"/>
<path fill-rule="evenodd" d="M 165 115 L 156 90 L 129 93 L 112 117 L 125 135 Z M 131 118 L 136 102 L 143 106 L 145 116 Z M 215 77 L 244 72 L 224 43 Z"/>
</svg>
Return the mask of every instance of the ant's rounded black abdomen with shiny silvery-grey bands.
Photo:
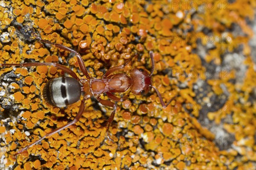
<svg viewBox="0 0 256 170">
<path fill-rule="evenodd" d="M 79 101 L 81 85 L 73 77 L 59 77 L 50 79 L 43 90 L 43 97 L 47 103 L 55 107 L 65 107 Z"/>
</svg>

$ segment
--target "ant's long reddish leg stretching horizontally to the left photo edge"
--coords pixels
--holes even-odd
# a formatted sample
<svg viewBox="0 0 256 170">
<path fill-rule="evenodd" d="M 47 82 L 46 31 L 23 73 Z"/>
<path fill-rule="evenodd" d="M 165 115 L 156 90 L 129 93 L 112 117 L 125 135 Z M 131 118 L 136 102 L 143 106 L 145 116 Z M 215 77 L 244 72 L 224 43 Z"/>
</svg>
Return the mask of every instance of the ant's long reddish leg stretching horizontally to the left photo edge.
<svg viewBox="0 0 256 170">
<path fill-rule="evenodd" d="M 61 69 L 64 72 L 66 72 L 73 78 L 80 80 L 74 71 L 72 71 L 69 68 L 67 68 L 66 66 L 58 64 L 56 62 L 25 62 L 23 64 L 0 64 L 0 66 L 8 66 L 8 67 L 9 66 L 32 67 L 32 66 L 41 66 L 41 65 L 48 65 L 48 66 L 52 65 L 58 69 Z"/>
</svg>

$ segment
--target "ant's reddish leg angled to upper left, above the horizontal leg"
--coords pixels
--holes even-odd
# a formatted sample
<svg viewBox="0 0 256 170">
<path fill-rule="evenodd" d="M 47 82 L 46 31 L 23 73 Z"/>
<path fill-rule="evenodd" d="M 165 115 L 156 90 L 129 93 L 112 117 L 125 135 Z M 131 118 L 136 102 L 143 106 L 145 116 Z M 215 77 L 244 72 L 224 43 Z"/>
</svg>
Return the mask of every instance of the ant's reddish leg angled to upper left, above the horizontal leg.
<svg viewBox="0 0 256 170">
<path fill-rule="evenodd" d="M 54 46 L 57 47 L 57 48 L 61 48 L 61 49 L 63 49 L 63 50 L 66 50 L 66 51 L 70 51 L 70 52 L 75 53 L 76 58 L 77 58 L 77 61 L 78 61 L 78 63 L 79 63 L 79 67 L 80 67 L 82 73 L 86 76 L 87 79 L 90 79 L 90 75 L 88 74 L 88 72 L 87 72 L 87 70 L 86 70 L 86 67 L 85 67 L 85 65 L 84 65 L 84 60 L 82 59 L 81 55 L 80 55 L 77 51 L 75 51 L 75 50 L 73 50 L 73 49 L 71 49 L 71 48 L 69 48 L 69 47 L 66 47 L 65 45 L 62 45 L 62 44 L 53 43 L 53 42 L 50 42 L 50 41 L 48 41 L 48 40 L 42 40 L 42 39 L 41 39 L 40 37 L 38 37 L 38 36 L 36 36 L 36 39 L 38 39 L 38 40 L 41 41 L 41 42 L 47 43 L 47 44 L 52 44 L 52 45 L 54 45 Z"/>
</svg>

